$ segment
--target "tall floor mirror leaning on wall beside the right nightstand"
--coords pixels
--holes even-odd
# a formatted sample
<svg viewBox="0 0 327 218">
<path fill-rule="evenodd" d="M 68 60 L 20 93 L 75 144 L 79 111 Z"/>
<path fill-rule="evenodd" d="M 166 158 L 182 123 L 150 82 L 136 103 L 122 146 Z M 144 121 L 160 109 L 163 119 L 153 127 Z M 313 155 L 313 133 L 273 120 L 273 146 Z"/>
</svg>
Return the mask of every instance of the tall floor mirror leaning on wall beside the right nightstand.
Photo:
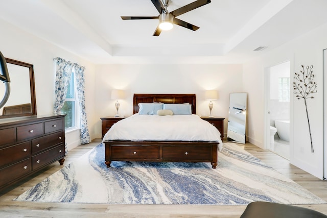
<svg viewBox="0 0 327 218">
<path fill-rule="evenodd" d="M 229 94 L 227 141 L 245 144 L 247 93 Z"/>
</svg>

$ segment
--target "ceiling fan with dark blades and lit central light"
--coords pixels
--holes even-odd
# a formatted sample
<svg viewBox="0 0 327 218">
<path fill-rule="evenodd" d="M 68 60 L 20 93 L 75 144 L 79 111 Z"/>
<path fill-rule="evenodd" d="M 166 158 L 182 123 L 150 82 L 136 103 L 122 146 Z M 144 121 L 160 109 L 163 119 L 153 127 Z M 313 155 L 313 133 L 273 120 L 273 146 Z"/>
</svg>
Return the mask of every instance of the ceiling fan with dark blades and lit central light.
<svg viewBox="0 0 327 218">
<path fill-rule="evenodd" d="M 211 0 L 198 0 L 181 8 L 178 8 L 172 12 L 168 12 L 168 4 L 170 0 L 151 0 L 155 8 L 160 13 L 158 16 L 121 16 L 123 20 L 138 20 L 138 19 L 159 19 L 159 25 L 153 33 L 153 36 L 159 36 L 162 30 L 170 30 L 173 28 L 173 23 L 196 31 L 199 27 L 192 25 L 191 23 L 185 22 L 176 18 L 177 16 L 186 12 L 192 11 L 196 8 L 211 3 Z"/>
</svg>

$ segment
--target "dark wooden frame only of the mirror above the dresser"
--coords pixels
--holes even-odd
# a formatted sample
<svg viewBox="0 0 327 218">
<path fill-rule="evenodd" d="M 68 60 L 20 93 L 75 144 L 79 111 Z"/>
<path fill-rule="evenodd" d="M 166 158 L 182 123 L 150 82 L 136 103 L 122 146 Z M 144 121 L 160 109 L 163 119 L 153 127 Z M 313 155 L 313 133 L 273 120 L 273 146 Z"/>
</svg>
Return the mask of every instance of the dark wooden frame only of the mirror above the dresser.
<svg viewBox="0 0 327 218">
<path fill-rule="evenodd" d="M 19 114 L 10 114 L 10 115 L 0 115 L 0 118 L 9 118 L 9 117 L 18 117 L 18 116 L 33 116 L 36 115 L 36 99 L 35 99 L 35 81 L 34 81 L 34 69 L 33 64 L 17 61 L 10 58 L 5 58 L 7 63 L 16 64 L 19 66 L 24 66 L 29 68 L 30 72 L 30 89 L 31 89 L 31 113 L 19 113 Z M 10 72 L 9 72 L 10 76 Z M 5 105 L 6 106 L 6 105 Z M 4 107 L 5 107 L 4 106 Z"/>
</svg>

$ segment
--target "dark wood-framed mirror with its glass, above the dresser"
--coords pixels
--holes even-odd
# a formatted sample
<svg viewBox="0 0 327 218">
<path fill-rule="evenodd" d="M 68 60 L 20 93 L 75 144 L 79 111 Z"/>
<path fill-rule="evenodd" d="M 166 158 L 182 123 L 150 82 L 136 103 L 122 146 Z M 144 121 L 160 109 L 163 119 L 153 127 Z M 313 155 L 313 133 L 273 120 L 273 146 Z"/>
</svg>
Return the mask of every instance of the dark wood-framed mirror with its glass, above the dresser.
<svg viewBox="0 0 327 218">
<path fill-rule="evenodd" d="M 0 118 L 36 115 L 33 65 L 6 58 L 11 91 Z M 5 91 L 0 87 L 0 95 Z"/>
</svg>

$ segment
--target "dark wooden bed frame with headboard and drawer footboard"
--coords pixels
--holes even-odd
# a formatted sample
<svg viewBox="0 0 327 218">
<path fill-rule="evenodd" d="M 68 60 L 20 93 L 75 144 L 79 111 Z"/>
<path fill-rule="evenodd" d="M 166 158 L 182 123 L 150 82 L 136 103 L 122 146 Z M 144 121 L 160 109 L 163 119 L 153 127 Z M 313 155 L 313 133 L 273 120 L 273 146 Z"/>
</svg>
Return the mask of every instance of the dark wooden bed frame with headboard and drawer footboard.
<svg viewBox="0 0 327 218">
<path fill-rule="evenodd" d="M 190 103 L 195 114 L 195 94 L 134 94 L 133 114 L 138 112 L 138 103 L 161 102 L 166 104 Z M 103 141 L 105 164 L 111 161 L 147 162 L 210 162 L 217 166 L 218 144 L 213 141 Z"/>
</svg>

